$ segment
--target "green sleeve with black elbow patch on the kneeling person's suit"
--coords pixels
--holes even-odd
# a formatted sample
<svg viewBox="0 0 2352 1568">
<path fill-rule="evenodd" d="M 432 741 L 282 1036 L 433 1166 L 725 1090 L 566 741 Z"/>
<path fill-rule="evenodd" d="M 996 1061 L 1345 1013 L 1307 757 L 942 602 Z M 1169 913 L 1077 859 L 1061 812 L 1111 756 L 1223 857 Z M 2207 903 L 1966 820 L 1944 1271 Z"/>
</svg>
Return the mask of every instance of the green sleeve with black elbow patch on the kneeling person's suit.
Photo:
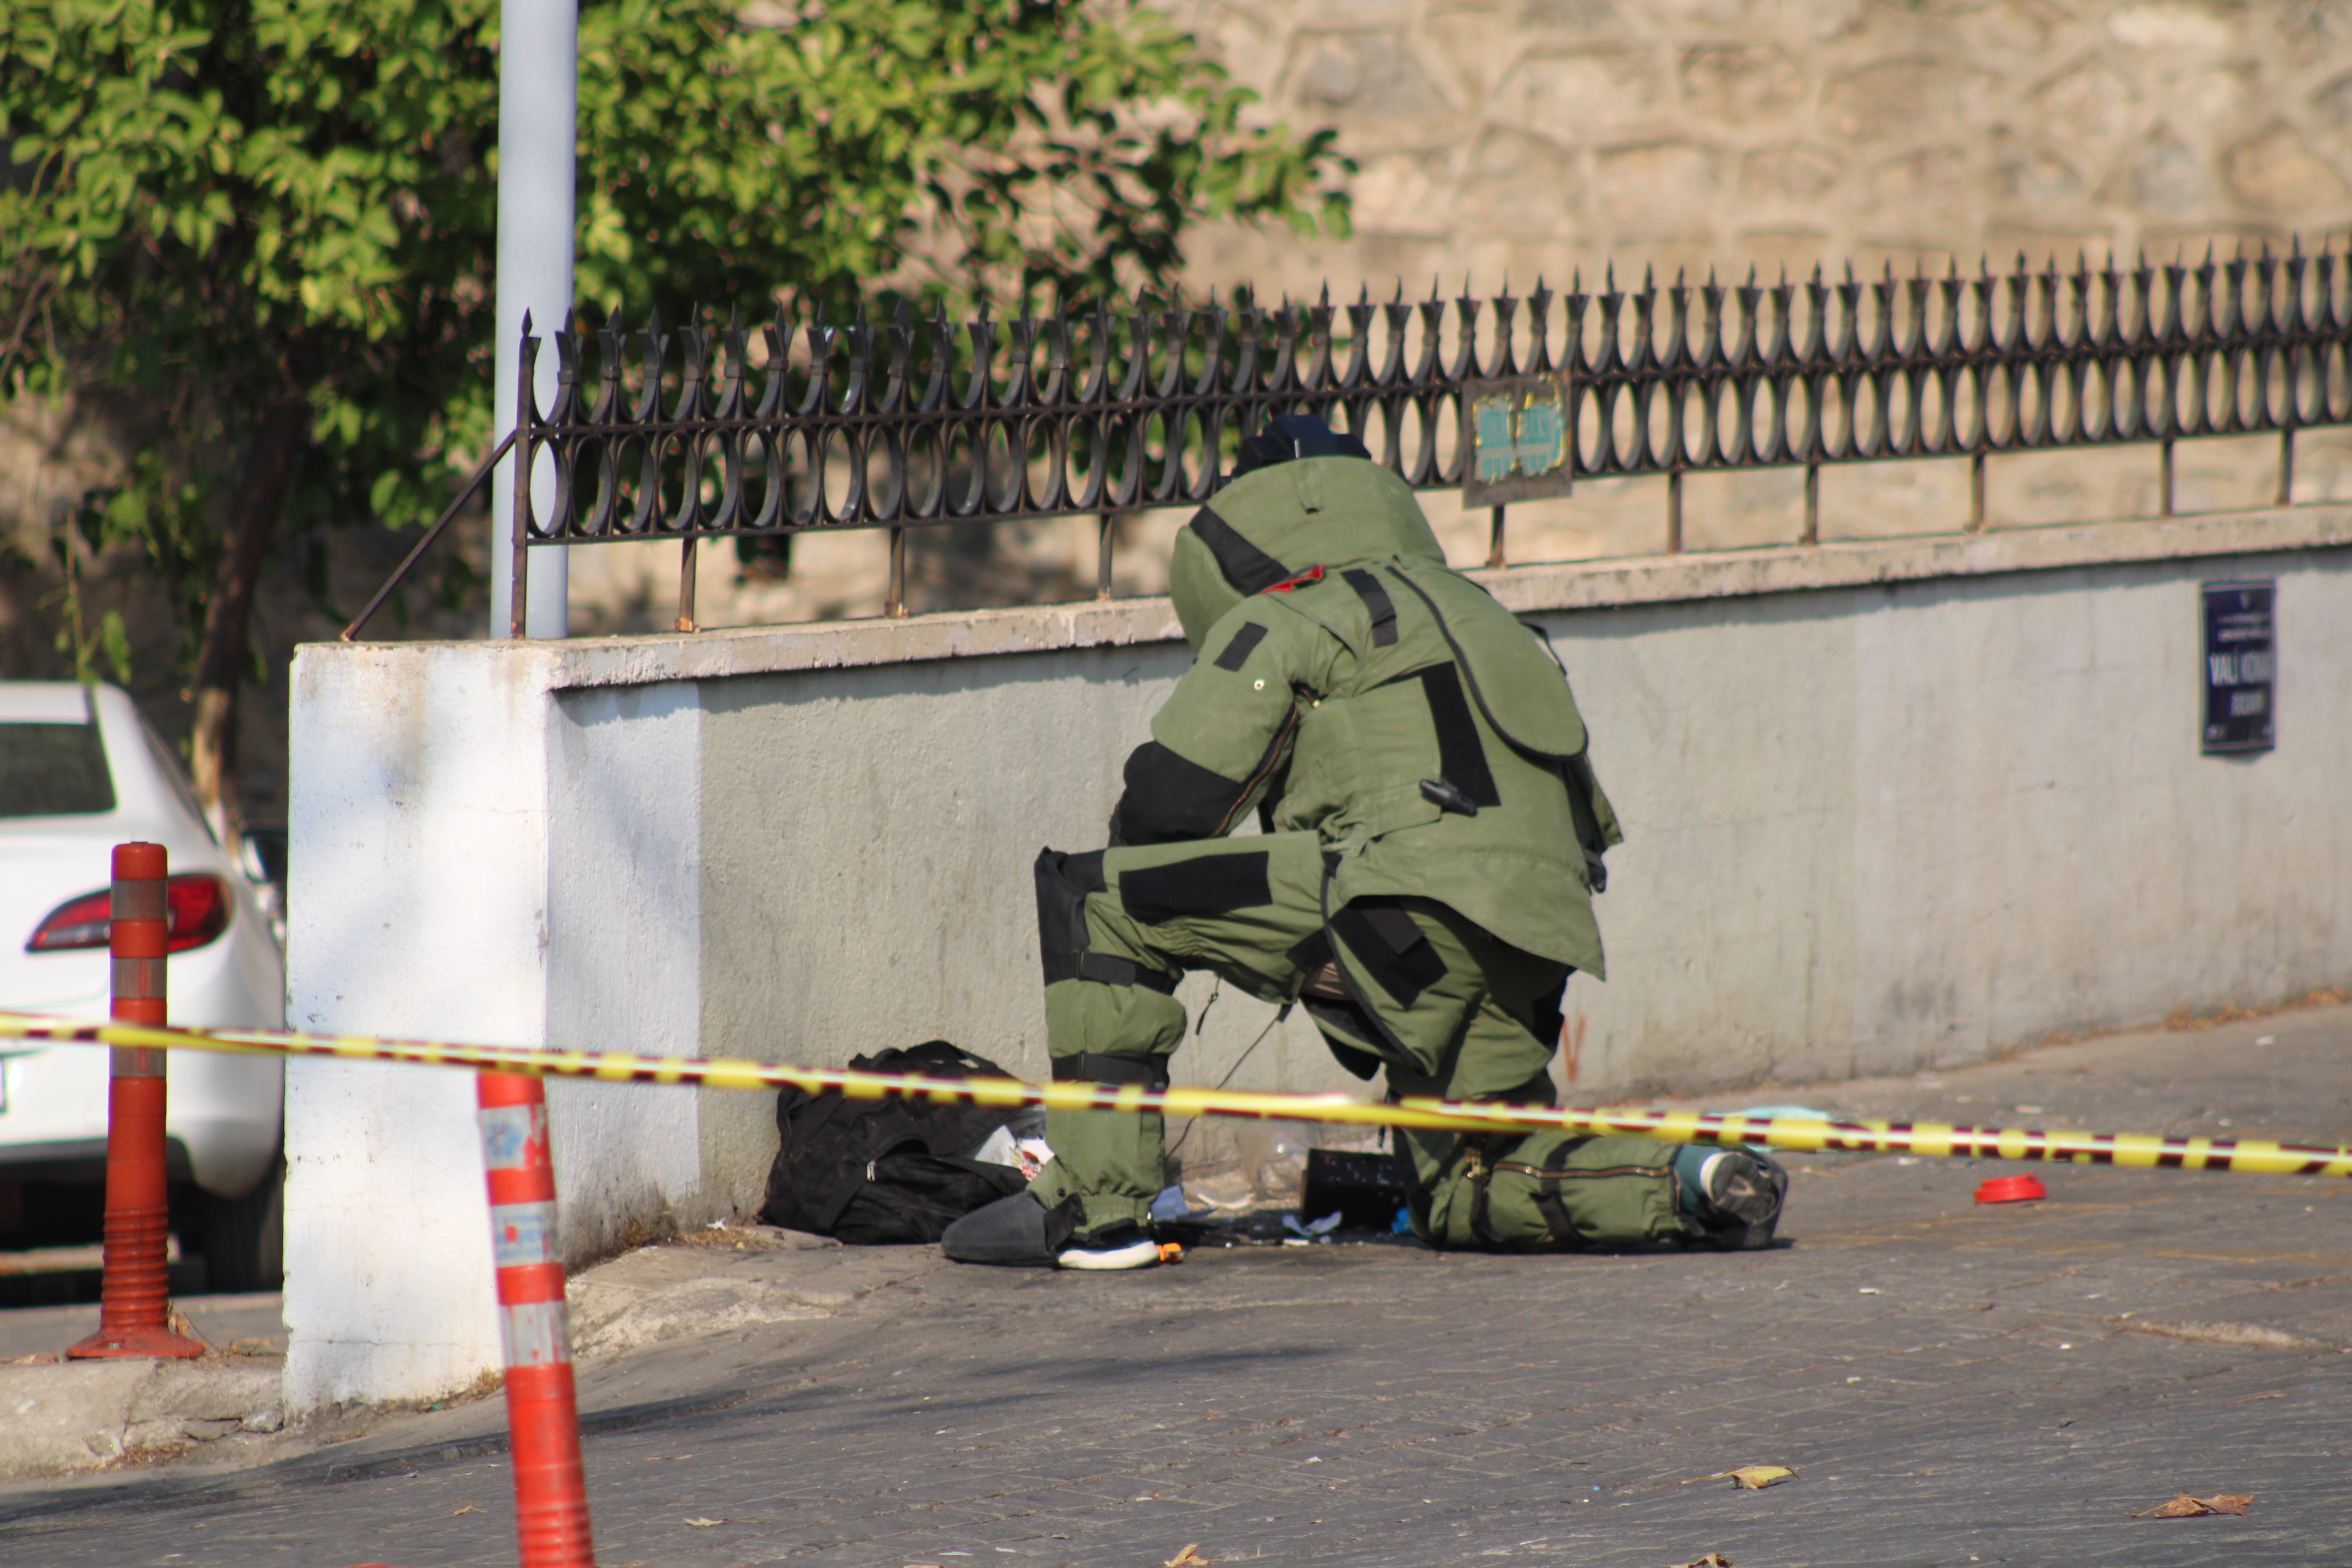
<svg viewBox="0 0 2352 1568">
<path fill-rule="evenodd" d="M 1298 708 L 1324 689 L 1322 642 L 1329 632 L 1279 602 L 1256 597 L 1232 607 L 1152 715 L 1152 738 L 1127 757 L 1110 842 L 1174 844 L 1232 832 L 1289 762 Z"/>
</svg>

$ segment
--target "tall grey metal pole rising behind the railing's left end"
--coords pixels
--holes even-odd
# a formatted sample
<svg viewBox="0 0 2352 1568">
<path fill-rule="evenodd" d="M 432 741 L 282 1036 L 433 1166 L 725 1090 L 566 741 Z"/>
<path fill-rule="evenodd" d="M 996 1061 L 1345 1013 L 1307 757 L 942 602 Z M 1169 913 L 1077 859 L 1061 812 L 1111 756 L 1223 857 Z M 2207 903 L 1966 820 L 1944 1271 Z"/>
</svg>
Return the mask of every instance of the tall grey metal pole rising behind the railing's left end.
<svg viewBox="0 0 2352 1568">
<path fill-rule="evenodd" d="M 499 341 L 492 440 L 515 428 L 515 346 L 522 313 L 539 334 L 572 313 L 572 179 L 579 120 L 576 0 L 503 0 L 499 9 Z M 532 376 L 541 407 L 555 397 L 555 355 Z M 515 602 L 515 484 L 508 456 L 492 482 L 489 635 L 506 637 Z M 534 463 L 532 505 L 555 503 L 546 463 Z M 562 637 L 564 550 L 532 550 L 524 632 Z"/>
</svg>

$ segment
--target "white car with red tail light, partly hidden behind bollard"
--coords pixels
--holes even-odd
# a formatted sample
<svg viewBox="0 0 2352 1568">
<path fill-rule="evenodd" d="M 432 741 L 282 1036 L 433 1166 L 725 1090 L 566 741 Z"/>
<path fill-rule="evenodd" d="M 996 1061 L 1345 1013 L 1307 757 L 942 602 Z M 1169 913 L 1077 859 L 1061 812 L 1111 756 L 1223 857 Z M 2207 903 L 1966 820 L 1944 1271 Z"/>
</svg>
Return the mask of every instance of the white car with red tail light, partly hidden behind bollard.
<svg viewBox="0 0 2352 1568">
<path fill-rule="evenodd" d="M 285 954 L 252 846 L 214 842 L 129 696 L 78 682 L 0 682 L 0 1009 L 106 1018 L 113 846 L 132 839 L 169 853 L 172 1023 L 282 1027 Z M 165 1070 L 181 1248 L 205 1253 L 212 1291 L 275 1288 L 282 1063 L 172 1051 Z M 0 1039 L 0 1185 L 38 1199 L 103 1182 L 106 1079 L 103 1046 Z"/>
</svg>

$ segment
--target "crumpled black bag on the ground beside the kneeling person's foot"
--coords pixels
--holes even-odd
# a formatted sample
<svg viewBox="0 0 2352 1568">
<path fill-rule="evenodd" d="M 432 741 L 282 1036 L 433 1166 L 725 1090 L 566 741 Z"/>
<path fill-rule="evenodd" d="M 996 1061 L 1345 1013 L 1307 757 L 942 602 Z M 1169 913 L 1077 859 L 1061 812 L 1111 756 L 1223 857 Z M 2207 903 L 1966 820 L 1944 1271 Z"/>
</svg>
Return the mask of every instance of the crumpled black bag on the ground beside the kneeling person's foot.
<svg viewBox="0 0 2352 1568">
<path fill-rule="evenodd" d="M 943 1039 L 861 1056 L 849 1067 L 934 1079 L 1011 1077 Z M 938 1241 L 974 1208 L 1028 1185 L 1014 1166 L 964 1159 L 1011 1117 L 988 1105 L 849 1100 L 786 1086 L 776 1091 L 781 1143 L 760 1218 L 851 1246 Z"/>
</svg>

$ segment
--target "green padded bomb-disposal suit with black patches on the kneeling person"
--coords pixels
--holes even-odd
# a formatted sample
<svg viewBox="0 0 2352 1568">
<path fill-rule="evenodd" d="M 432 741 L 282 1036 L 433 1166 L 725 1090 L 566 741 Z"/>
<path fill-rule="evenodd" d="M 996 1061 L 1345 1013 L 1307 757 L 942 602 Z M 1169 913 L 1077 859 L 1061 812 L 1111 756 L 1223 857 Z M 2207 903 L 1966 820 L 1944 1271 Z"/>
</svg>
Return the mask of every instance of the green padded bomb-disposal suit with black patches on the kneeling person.
<svg viewBox="0 0 2352 1568">
<path fill-rule="evenodd" d="M 1037 858 L 1054 1077 L 1164 1084 L 1176 978 L 1301 1004 L 1397 1095 L 1552 1103 L 1571 971 L 1621 839 L 1548 642 L 1449 571 L 1411 489 L 1352 456 L 1228 484 L 1176 536 L 1197 658 L 1127 762 L 1112 846 Z M 1263 832 L 1228 837 L 1256 813 Z M 1056 1112 L 1030 1192 L 1143 1222 L 1160 1117 Z M 1682 1237 L 1675 1145 L 1404 1133 L 1439 1246 Z"/>
</svg>

